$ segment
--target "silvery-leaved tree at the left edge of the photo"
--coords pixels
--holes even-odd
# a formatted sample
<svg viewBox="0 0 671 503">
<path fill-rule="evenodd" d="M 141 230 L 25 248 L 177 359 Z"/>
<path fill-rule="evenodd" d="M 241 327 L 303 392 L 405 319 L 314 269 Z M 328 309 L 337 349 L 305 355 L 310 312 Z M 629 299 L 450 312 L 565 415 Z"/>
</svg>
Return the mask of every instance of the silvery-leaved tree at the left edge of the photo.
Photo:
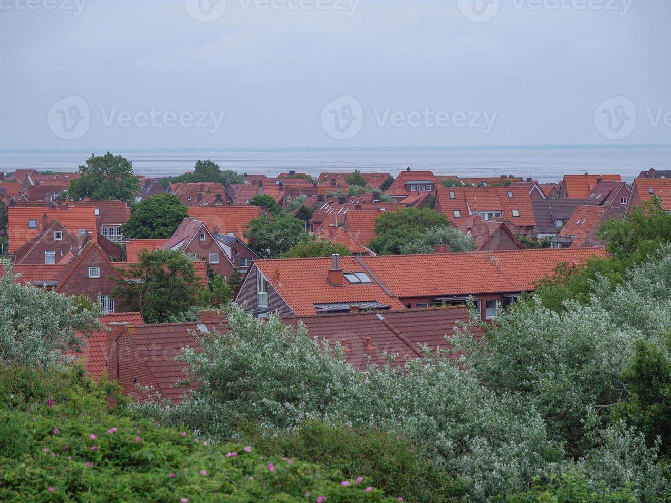
<svg viewBox="0 0 671 503">
<path fill-rule="evenodd" d="M 101 328 L 98 304 L 83 306 L 74 297 L 25 286 L 16 279 L 11 267 L 4 268 L 0 277 L 0 362 L 43 368 L 62 364 L 66 351 L 78 349 L 82 342 L 77 331 L 86 335 Z"/>
</svg>

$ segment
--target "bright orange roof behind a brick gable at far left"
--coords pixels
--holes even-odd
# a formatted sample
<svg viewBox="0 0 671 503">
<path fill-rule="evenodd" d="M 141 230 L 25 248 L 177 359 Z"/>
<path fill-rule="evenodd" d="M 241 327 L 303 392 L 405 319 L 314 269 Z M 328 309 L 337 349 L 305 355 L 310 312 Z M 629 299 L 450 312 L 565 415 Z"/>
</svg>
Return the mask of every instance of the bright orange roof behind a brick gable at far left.
<svg viewBox="0 0 671 503">
<path fill-rule="evenodd" d="M 97 241 L 95 211 L 92 207 L 16 207 L 9 208 L 9 253 L 13 254 L 21 245 L 42 232 L 42 215 L 47 222 L 58 220 L 70 234 L 79 235 L 79 230 L 91 231 L 93 241 Z M 28 229 L 28 220 L 38 221 L 37 229 Z"/>
</svg>

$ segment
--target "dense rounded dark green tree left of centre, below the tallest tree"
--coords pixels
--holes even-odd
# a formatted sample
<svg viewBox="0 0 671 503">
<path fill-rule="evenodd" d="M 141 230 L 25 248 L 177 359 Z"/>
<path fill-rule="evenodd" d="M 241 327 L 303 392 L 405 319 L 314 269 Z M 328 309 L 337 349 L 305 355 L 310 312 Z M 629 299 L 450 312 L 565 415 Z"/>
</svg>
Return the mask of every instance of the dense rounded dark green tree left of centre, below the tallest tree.
<svg viewBox="0 0 671 503">
<path fill-rule="evenodd" d="M 121 233 L 128 239 L 168 239 L 188 216 L 178 197 L 157 194 L 138 204 Z"/>
</svg>

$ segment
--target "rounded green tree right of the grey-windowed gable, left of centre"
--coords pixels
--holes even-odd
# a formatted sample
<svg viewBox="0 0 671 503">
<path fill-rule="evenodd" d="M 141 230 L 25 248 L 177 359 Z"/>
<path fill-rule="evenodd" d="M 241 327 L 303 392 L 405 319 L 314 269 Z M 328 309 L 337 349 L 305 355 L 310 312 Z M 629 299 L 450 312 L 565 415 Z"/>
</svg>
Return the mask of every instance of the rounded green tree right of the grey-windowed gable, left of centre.
<svg viewBox="0 0 671 503">
<path fill-rule="evenodd" d="M 305 232 L 305 222 L 286 213 L 280 213 L 274 219 L 261 215 L 250 221 L 245 237 L 247 245 L 259 258 L 280 256 L 310 238 Z"/>
</svg>

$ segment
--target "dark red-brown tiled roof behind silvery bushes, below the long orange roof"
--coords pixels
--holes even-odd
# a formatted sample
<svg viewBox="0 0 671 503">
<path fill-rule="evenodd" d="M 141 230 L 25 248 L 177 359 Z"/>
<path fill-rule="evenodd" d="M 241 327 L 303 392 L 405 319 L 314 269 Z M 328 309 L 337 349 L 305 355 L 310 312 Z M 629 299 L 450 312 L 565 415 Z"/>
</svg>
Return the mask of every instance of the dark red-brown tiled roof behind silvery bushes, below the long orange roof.
<svg viewBox="0 0 671 503">
<path fill-rule="evenodd" d="M 403 366 L 408 359 L 423 356 L 421 345 L 432 351 L 439 346 L 450 349 L 446 335 L 453 335 L 454 327 L 468 319 L 468 311 L 462 307 L 287 317 L 282 323 L 303 322 L 309 337 L 317 337 L 320 343 L 327 340 L 333 349 L 340 342 L 349 350 L 344 351 L 344 360 L 359 370 L 366 370 L 369 364 Z M 473 329 L 472 333 L 477 338 L 482 337 L 482 329 Z M 398 358 L 391 361 L 390 355 L 398 355 Z M 454 355 L 456 357 L 458 355 Z"/>
</svg>

